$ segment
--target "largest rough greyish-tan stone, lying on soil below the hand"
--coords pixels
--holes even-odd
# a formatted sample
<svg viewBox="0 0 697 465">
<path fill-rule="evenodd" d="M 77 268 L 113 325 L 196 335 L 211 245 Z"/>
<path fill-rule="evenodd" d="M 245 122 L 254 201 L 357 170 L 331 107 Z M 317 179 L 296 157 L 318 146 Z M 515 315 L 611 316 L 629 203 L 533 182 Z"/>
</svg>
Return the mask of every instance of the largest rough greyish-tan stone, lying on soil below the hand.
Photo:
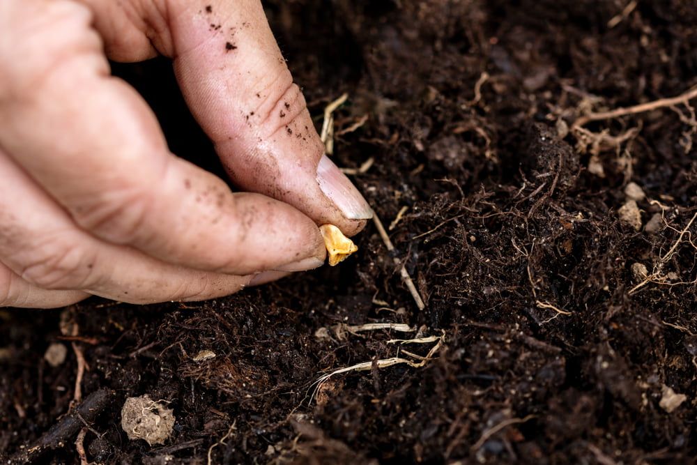
<svg viewBox="0 0 697 465">
<path fill-rule="evenodd" d="M 144 439 L 149 445 L 164 444 L 174 429 L 172 409 L 149 395 L 128 397 L 121 409 L 121 428 L 131 441 Z"/>
</svg>

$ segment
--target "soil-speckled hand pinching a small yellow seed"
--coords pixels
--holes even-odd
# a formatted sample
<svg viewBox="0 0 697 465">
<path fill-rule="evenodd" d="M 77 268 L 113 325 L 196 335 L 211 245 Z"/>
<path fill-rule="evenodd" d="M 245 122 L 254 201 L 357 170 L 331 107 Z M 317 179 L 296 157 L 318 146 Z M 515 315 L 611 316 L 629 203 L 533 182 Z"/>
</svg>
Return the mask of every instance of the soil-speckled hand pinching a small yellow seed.
<svg viewBox="0 0 697 465">
<path fill-rule="evenodd" d="M 107 56 L 164 54 L 236 185 L 176 158 Z M 365 200 L 259 0 L 0 2 L 0 306 L 202 300 L 323 263 Z M 266 197 L 268 196 L 268 197 Z M 260 273 L 261 272 L 261 273 Z"/>
</svg>

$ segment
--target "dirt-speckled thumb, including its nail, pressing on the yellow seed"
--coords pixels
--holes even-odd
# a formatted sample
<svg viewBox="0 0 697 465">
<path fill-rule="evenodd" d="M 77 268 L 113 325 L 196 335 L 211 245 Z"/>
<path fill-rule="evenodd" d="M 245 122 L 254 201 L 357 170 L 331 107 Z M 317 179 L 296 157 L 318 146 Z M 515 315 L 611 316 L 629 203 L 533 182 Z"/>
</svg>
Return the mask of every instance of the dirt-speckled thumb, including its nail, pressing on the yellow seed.
<svg viewBox="0 0 697 465">
<path fill-rule="evenodd" d="M 324 147 L 258 0 L 171 1 L 174 66 L 240 188 L 355 234 L 372 210 Z"/>
</svg>

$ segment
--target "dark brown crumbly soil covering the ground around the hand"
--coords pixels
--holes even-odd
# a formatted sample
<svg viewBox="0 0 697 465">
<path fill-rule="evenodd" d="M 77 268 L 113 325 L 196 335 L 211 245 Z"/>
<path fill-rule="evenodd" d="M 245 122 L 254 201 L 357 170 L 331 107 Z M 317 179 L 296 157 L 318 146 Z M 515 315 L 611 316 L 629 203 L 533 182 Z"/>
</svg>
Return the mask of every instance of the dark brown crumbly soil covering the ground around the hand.
<svg viewBox="0 0 697 465">
<path fill-rule="evenodd" d="M 89 422 L 86 457 L 693 463 L 697 224 L 671 247 L 697 213 L 694 114 L 664 108 L 572 130 L 590 110 L 697 84 L 694 1 L 639 1 L 623 15 L 627 3 L 268 2 L 318 125 L 348 92 L 335 159 L 355 168 L 374 158 L 353 179 L 385 227 L 408 208 L 389 231 L 397 250 L 369 224 L 341 266 L 229 298 L 75 305 L 84 397 L 115 396 Z M 175 153 L 221 171 L 167 61 L 114 70 L 151 102 Z M 618 216 L 630 182 L 645 192 L 638 231 Z M 634 264 L 654 282 L 636 289 Z M 77 363 L 60 311 L 0 318 L 0 456 L 19 460 L 70 411 Z M 372 322 L 418 332 L 337 326 Z M 442 332 L 424 367 L 378 369 L 398 350 L 424 356 L 435 344 L 388 340 Z M 51 367 L 43 354 L 61 341 L 68 358 Z M 215 357 L 194 360 L 201 351 Z M 321 372 L 362 362 L 372 369 L 332 376 L 312 397 Z M 165 445 L 121 429 L 125 397 L 144 394 L 174 410 Z M 686 398 L 672 409 L 675 395 Z M 72 429 L 36 461 L 79 463 L 76 437 Z"/>
</svg>

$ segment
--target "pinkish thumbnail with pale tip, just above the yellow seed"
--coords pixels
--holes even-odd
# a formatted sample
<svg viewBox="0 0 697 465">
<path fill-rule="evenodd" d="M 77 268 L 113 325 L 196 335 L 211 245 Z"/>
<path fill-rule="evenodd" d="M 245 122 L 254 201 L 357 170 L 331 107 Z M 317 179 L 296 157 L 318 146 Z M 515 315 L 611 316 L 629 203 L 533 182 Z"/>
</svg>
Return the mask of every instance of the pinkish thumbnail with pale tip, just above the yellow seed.
<svg viewBox="0 0 697 465">
<path fill-rule="evenodd" d="M 368 202 L 327 155 L 322 155 L 317 165 L 317 183 L 324 195 L 334 202 L 349 220 L 373 218 L 373 211 Z"/>
</svg>

